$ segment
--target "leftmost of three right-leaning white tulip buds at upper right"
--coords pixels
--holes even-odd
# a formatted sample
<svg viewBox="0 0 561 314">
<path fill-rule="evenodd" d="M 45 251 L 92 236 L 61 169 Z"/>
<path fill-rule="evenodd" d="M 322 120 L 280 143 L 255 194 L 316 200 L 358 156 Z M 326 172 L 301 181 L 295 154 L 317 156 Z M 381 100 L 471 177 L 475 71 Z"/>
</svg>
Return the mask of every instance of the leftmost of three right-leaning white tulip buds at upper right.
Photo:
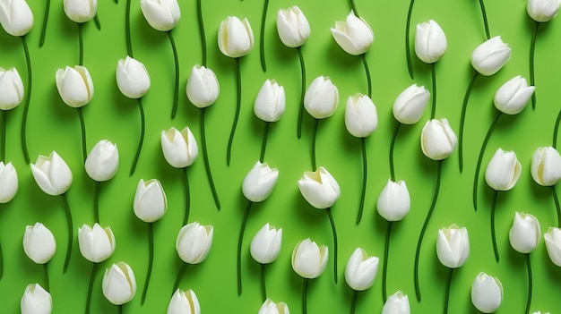
<svg viewBox="0 0 561 314">
<path fill-rule="evenodd" d="M 412 84 L 395 98 L 392 112 L 395 120 L 403 124 L 418 123 L 425 112 L 430 92 L 424 86 Z"/>
</svg>

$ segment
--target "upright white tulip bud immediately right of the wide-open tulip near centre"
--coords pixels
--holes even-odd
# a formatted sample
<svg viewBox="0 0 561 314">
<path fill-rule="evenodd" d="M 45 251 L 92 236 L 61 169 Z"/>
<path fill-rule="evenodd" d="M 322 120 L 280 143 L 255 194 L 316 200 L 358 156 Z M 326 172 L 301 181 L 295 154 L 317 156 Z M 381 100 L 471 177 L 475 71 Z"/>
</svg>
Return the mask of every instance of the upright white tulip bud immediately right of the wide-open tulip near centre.
<svg viewBox="0 0 561 314">
<path fill-rule="evenodd" d="M 411 208 L 407 185 L 403 180 L 393 182 L 388 179 L 376 201 L 376 210 L 387 221 L 400 221 Z"/>
</svg>

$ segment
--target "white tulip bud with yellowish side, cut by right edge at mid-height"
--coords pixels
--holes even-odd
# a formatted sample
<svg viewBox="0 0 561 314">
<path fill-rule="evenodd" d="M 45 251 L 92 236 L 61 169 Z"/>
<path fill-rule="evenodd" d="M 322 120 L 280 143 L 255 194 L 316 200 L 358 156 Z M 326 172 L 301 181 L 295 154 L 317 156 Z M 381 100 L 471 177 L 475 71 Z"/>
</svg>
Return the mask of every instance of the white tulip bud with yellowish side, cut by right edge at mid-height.
<svg viewBox="0 0 561 314">
<path fill-rule="evenodd" d="M 543 186 L 556 185 L 561 180 L 561 156 L 557 149 L 536 149 L 531 156 L 531 177 Z"/>
</svg>

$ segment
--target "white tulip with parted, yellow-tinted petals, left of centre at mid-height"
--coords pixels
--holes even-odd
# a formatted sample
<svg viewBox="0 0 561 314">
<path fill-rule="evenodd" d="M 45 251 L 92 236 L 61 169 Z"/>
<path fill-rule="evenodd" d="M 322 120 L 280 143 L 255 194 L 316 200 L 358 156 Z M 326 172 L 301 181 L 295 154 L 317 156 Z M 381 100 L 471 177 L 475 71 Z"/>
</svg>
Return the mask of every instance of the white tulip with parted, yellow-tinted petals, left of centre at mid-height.
<svg viewBox="0 0 561 314">
<path fill-rule="evenodd" d="M 181 132 L 172 127 L 161 132 L 161 150 L 168 164 L 176 168 L 193 165 L 199 156 L 199 147 L 189 127 Z"/>
</svg>

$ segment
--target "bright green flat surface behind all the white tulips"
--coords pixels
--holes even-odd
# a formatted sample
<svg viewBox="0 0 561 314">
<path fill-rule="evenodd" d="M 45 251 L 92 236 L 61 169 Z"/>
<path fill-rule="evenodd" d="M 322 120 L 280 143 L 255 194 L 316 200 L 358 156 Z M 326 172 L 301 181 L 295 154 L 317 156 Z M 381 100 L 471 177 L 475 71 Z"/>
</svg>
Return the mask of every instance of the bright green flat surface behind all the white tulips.
<svg viewBox="0 0 561 314">
<path fill-rule="evenodd" d="M 56 150 L 73 170 L 74 182 L 68 191 L 73 212 L 74 229 L 83 223 L 93 223 L 93 182 L 83 170 L 80 126 L 75 110 L 65 106 L 55 85 L 59 67 L 78 62 L 78 39 L 75 24 L 65 17 L 61 0 L 55 0 L 47 27 L 45 46 L 39 49 L 40 25 L 44 1 L 30 1 L 35 26 L 28 41 L 33 66 L 28 137 L 31 160 L 39 154 Z M 309 284 L 309 313 L 341 313 L 350 308 L 351 291 L 345 284 L 343 269 L 350 254 L 358 246 L 371 255 L 383 257 L 386 224 L 375 211 L 375 200 L 389 177 L 388 151 L 395 122 L 393 100 L 408 87 L 410 80 L 405 63 L 404 28 L 409 2 L 357 0 L 358 11 L 375 31 L 375 42 L 367 53 L 372 72 L 373 99 L 378 109 L 378 130 L 367 139 L 368 182 L 365 213 L 360 225 L 355 224 L 361 186 L 362 164 L 359 141 L 352 138 L 343 123 L 346 98 L 367 85 L 362 62 L 347 55 L 332 39 L 329 28 L 342 21 L 350 11 L 346 0 L 320 1 L 272 0 L 265 25 L 265 54 L 268 69 L 261 69 L 259 30 L 263 2 L 255 0 L 203 0 L 203 16 L 207 36 L 208 63 L 220 81 L 220 98 L 206 115 L 207 141 L 217 189 L 222 203 L 217 211 L 211 199 L 202 156 L 189 168 L 192 211 L 190 221 L 214 225 L 214 242 L 208 258 L 200 265 L 190 266 L 181 281 L 183 289 L 197 293 L 204 313 L 255 313 L 262 300 L 259 288 L 259 267 L 249 255 L 249 242 L 266 222 L 282 227 L 284 239 L 279 259 L 267 267 L 268 293 L 273 301 L 286 301 L 293 313 L 301 311 L 302 279 L 290 267 L 294 245 L 306 237 L 327 244 L 332 252 L 332 233 L 323 211 L 311 208 L 300 196 L 296 182 L 304 171 L 311 170 L 310 140 L 313 120 L 305 114 L 303 137 L 297 140 L 296 124 L 300 93 L 300 68 L 296 50 L 284 47 L 278 38 L 275 19 L 279 8 L 298 4 L 310 22 L 312 35 L 302 48 L 306 59 L 307 84 L 316 76 L 328 75 L 340 90 L 340 107 L 331 118 L 322 122 L 317 138 L 318 165 L 324 165 L 340 182 L 341 199 L 332 208 L 340 240 L 339 284 L 333 283 L 332 257 L 325 272 Z M 451 313 L 477 313 L 470 301 L 470 286 L 480 271 L 498 276 L 505 287 L 505 300 L 497 313 L 522 312 L 526 302 L 527 273 L 523 256 L 508 243 L 508 230 L 514 211 L 537 216 L 542 231 L 557 224 L 557 215 L 550 189 L 539 187 L 531 179 L 531 154 L 539 146 L 551 145 L 555 118 L 559 111 L 558 82 L 561 59 L 558 51 L 559 21 L 549 22 L 539 30 L 536 47 L 536 82 L 538 105 L 527 107 L 522 114 L 505 117 L 498 123 L 488 143 L 483 160 L 485 166 L 498 148 L 514 149 L 522 163 L 522 176 L 512 191 L 502 193 L 496 209 L 497 242 L 501 259 L 496 263 L 490 242 L 489 214 L 492 193 L 484 181 L 479 188 L 479 211 L 471 206 L 471 184 L 479 146 L 495 116 L 491 105 L 500 85 L 522 74 L 529 78 L 529 51 L 533 24 L 527 16 L 524 1 L 488 1 L 488 21 L 491 36 L 502 35 L 513 48 L 510 62 L 492 77 L 480 78 L 470 97 L 465 129 L 465 168 L 461 174 L 458 153 L 444 161 L 442 188 L 435 214 L 428 225 L 420 258 L 421 302 L 415 298 L 413 259 L 420 228 L 427 214 L 436 182 L 436 162 L 419 149 L 420 131 L 429 118 L 429 106 L 421 122 L 401 129 L 395 147 L 395 167 L 398 179 L 407 182 L 411 195 L 411 211 L 402 222 L 395 224 L 390 251 L 388 293 L 398 289 L 410 296 L 411 311 L 438 312 L 444 303 L 446 269 L 436 259 L 436 232 L 444 226 L 466 226 L 470 233 L 470 258 L 464 267 L 454 272 L 451 291 Z M 168 306 L 171 287 L 181 266 L 175 250 L 177 232 L 183 220 L 185 199 L 179 170 L 169 166 L 160 149 L 160 131 L 171 126 L 178 129 L 189 125 L 200 139 L 199 112 L 190 105 L 185 86 L 193 64 L 201 62 L 195 1 L 180 2 L 182 18 L 173 30 L 180 62 L 179 109 L 175 120 L 170 119 L 174 64 L 166 34 L 152 30 L 144 20 L 140 4 L 132 4 L 132 38 L 134 57 L 142 61 L 151 74 L 151 90 L 143 98 L 147 129 L 142 156 L 133 176 L 129 169 L 139 136 L 140 119 L 134 100 L 123 97 L 117 89 L 117 60 L 125 57 L 125 1 L 115 4 L 99 1 L 101 30 L 93 22 L 84 25 L 84 65 L 91 72 L 95 96 L 83 108 L 88 130 L 88 149 L 102 139 L 117 143 L 121 165 L 117 176 L 101 185 L 101 225 L 109 225 L 117 238 L 117 250 L 98 268 L 92 296 L 92 313 L 117 312 L 101 293 L 104 268 L 124 260 L 136 275 L 138 292 L 125 305 L 125 313 L 162 313 Z M 232 163 L 226 165 L 226 145 L 236 104 L 235 62 L 221 55 L 216 44 L 220 21 L 228 15 L 247 17 L 255 31 L 256 45 L 250 55 L 241 60 L 243 105 Z M 485 38 L 479 3 L 474 0 L 417 1 L 411 21 L 414 25 L 433 19 L 448 38 L 448 51 L 436 64 L 436 117 L 446 117 L 458 132 L 462 98 L 471 76 L 471 51 Z M 415 82 L 430 87 L 430 71 L 413 54 Z M 25 60 L 19 38 L 0 31 L 0 66 L 15 66 L 27 79 Z M 280 178 L 270 199 L 256 205 L 246 228 L 243 246 L 244 293 L 236 292 L 237 233 L 246 200 L 241 194 L 241 182 L 259 157 L 263 123 L 253 114 L 253 102 L 263 81 L 276 79 L 286 89 L 287 110 L 270 131 L 266 161 L 280 169 Z M 306 85 L 307 85 L 306 84 Z M 65 214 L 60 198 L 47 196 L 34 182 L 29 165 L 25 164 L 20 145 L 23 107 L 8 114 L 7 160 L 16 166 L 20 190 L 15 199 L 0 208 L 0 240 L 4 250 L 4 278 L 0 282 L 0 303 L 3 313 L 19 311 L 26 284 L 43 281 L 42 268 L 28 259 L 22 250 L 25 225 L 40 221 L 56 236 L 58 248 L 49 263 L 54 313 L 81 312 L 85 306 L 91 264 L 82 258 L 74 233 L 74 248 L 70 267 L 62 274 L 67 241 Z M 200 143 L 200 140 L 199 140 Z M 158 178 L 168 195 L 168 213 L 154 225 L 155 260 L 151 287 L 145 304 L 140 297 L 148 265 L 147 225 L 133 213 L 133 198 L 137 182 Z M 481 173 L 483 180 L 483 172 Z M 556 313 L 561 309 L 561 270 L 548 259 L 544 242 L 531 254 L 534 276 L 531 311 Z M 372 289 L 358 296 L 357 313 L 375 313 L 382 309 L 381 267 Z"/>
</svg>

